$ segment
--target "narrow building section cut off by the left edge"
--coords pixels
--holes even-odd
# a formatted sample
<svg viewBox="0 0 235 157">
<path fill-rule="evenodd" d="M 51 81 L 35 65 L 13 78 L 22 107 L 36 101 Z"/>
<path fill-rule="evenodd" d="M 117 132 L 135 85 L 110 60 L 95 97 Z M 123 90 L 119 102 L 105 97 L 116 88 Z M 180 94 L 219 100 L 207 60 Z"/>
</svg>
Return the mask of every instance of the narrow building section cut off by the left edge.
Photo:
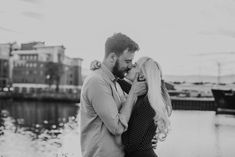
<svg viewBox="0 0 235 157">
<path fill-rule="evenodd" d="M 0 44 L 0 91 L 11 86 L 10 55 L 16 49 L 18 49 L 16 42 Z"/>
</svg>

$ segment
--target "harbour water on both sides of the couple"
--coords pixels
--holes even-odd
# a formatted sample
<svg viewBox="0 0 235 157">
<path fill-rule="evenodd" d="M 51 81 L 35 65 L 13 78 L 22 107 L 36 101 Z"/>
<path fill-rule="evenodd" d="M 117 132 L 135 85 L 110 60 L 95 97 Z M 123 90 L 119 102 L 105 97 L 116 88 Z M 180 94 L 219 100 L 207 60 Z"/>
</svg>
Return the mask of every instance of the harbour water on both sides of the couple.
<svg viewBox="0 0 235 157">
<path fill-rule="evenodd" d="M 75 104 L 8 102 L 0 108 L 0 123 L 4 124 L 0 157 L 81 156 Z M 159 157 L 235 156 L 235 117 L 174 111 L 171 123 L 166 141 L 159 142 L 155 150 Z"/>
</svg>

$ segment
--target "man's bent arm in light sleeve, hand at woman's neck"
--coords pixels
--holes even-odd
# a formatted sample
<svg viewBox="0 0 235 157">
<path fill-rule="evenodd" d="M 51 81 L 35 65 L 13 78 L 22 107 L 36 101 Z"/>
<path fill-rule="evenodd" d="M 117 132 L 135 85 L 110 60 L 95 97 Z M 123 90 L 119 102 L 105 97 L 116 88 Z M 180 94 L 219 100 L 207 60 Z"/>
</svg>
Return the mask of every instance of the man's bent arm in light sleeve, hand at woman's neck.
<svg viewBox="0 0 235 157">
<path fill-rule="evenodd" d="M 138 84 L 132 86 L 126 102 L 120 112 L 112 96 L 112 89 L 102 78 L 93 78 L 89 81 L 87 90 L 88 100 L 95 112 L 103 121 L 107 129 L 114 135 L 120 135 L 127 129 L 133 105 L 142 90 Z"/>
</svg>

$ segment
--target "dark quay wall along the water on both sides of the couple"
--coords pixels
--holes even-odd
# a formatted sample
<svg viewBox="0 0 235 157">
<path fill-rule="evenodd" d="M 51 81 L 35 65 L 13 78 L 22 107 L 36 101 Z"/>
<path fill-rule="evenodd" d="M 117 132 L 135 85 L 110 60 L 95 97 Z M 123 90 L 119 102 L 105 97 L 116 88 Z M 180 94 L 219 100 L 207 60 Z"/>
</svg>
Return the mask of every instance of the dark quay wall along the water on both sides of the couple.
<svg viewBox="0 0 235 157">
<path fill-rule="evenodd" d="M 74 102 L 80 103 L 80 93 L 14 93 L 1 92 L 0 99 L 44 102 Z M 205 110 L 215 111 L 214 98 L 193 98 L 171 96 L 172 107 L 175 110 Z"/>
</svg>

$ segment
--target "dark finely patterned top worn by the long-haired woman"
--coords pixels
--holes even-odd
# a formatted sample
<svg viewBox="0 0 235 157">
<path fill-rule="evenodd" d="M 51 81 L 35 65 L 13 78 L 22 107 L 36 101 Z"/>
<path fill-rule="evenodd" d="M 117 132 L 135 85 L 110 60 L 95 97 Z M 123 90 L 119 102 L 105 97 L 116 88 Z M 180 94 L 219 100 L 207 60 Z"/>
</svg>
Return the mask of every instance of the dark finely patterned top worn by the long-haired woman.
<svg viewBox="0 0 235 157">
<path fill-rule="evenodd" d="M 118 82 L 124 91 L 129 92 L 130 85 L 124 81 Z M 150 106 L 148 97 L 138 97 L 128 122 L 128 129 L 122 134 L 125 157 L 157 157 L 152 148 L 152 139 L 157 129 L 154 116 L 155 111 Z"/>
</svg>

